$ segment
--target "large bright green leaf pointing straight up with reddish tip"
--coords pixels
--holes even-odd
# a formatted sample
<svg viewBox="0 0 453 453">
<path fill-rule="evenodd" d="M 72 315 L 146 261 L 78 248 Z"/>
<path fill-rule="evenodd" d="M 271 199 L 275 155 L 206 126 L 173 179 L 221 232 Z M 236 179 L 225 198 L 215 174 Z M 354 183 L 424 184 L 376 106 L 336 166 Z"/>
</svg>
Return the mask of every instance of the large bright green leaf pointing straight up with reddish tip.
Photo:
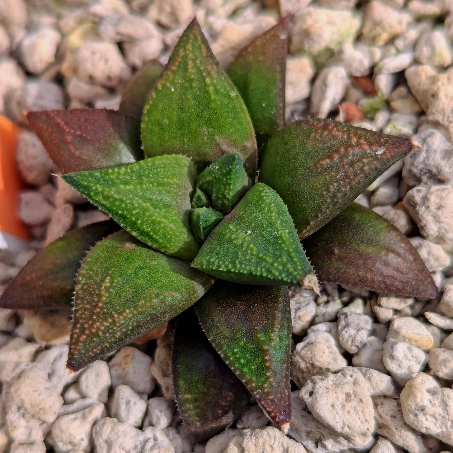
<svg viewBox="0 0 453 453">
<path fill-rule="evenodd" d="M 183 153 L 197 165 L 237 152 L 247 173 L 255 177 L 250 116 L 196 19 L 179 39 L 148 97 L 142 141 L 147 157 Z"/>
</svg>

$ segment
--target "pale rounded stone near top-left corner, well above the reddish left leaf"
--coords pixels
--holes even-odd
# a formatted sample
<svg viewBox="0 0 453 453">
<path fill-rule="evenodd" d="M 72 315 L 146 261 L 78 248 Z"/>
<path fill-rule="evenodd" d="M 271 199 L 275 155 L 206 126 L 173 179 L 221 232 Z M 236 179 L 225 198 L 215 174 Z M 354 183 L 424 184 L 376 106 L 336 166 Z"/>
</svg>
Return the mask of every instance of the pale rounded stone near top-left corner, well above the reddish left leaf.
<svg viewBox="0 0 453 453">
<path fill-rule="evenodd" d="M 41 74 L 55 61 L 61 35 L 53 28 L 43 28 L 24 35 L 19 53 L 25 68 L 32 74 Z"/>
</svg>

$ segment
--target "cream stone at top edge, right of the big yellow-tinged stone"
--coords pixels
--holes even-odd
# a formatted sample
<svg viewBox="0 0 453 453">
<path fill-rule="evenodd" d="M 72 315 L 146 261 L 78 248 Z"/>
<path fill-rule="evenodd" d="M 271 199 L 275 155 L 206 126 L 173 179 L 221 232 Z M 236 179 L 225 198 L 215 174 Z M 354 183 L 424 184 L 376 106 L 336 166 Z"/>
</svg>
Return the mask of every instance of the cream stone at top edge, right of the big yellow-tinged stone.
<svg viewBox="0 0 453 453">
<path fill-rule="evenodd" d="M 404 33 L 413 20 L 406 11 L 372 0 L 365 8 L 362 35 L 368 43 L 380 46 Z"/>
</svg>

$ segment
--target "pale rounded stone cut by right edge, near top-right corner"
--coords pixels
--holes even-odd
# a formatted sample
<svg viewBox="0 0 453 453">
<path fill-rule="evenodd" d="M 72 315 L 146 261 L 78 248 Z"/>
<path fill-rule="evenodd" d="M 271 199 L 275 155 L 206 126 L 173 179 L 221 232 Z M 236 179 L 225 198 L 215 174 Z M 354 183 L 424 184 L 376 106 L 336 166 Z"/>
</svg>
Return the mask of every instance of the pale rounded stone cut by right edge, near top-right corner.
<svg viewBox="0 0 453 453">
<path fill-rule="evenodd" d="M 431 66 L 449 66 L 453 61 L 453 48 L 444 31 L 422 34 L 415 45 L 415 59 Z"/>
</svg>

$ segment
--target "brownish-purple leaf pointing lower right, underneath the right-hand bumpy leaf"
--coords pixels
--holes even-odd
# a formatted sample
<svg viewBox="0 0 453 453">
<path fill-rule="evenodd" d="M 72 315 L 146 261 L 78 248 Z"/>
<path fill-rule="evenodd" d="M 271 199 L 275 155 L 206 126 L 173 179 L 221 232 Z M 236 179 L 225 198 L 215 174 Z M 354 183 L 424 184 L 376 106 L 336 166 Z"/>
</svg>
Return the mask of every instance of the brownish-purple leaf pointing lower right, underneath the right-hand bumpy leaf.
<svg viewBox="0 0 453 453">
<path fill-rule="evenodd" d="M 431 274 L 406 237 L 357 203 L 304 240 L 320 281 L 434 299 Z"/>
</svg>

